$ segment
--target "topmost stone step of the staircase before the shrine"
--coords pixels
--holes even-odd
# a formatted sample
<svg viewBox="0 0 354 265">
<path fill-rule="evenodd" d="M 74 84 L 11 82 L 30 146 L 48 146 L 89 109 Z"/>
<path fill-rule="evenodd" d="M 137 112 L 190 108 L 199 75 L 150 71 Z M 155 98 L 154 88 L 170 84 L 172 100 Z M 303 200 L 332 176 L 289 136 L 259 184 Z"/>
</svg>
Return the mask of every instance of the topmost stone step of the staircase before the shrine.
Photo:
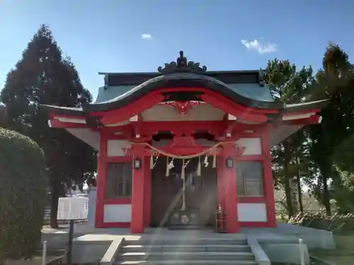
<svg viewBox="0 0 354 265">
<path fill-rule="evenodd" d="M 247 245 L 246 239 L 156 239 L 156 240 L 125 240 L 124 245 Z"/>
</svg>

